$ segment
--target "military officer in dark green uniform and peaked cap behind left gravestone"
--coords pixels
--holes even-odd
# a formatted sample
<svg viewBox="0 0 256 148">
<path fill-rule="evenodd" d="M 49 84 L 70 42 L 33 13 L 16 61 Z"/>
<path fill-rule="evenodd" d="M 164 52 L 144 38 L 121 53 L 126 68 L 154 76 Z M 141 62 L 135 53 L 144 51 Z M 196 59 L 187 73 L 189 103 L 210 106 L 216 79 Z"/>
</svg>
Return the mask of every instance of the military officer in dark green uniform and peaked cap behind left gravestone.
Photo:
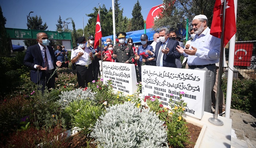
<svg viewBox="0 0 256 148">
<path fill-rule="evenodd" d="M 114 47 L 112 58 L 120 63 L 131 62 L 132 58 L 134 58 L 134 53 L 132 47 L 125 43 L 126 33 L 120 32 L 116 36 L 119 39 L 119 44 Z"/>
</svg>

